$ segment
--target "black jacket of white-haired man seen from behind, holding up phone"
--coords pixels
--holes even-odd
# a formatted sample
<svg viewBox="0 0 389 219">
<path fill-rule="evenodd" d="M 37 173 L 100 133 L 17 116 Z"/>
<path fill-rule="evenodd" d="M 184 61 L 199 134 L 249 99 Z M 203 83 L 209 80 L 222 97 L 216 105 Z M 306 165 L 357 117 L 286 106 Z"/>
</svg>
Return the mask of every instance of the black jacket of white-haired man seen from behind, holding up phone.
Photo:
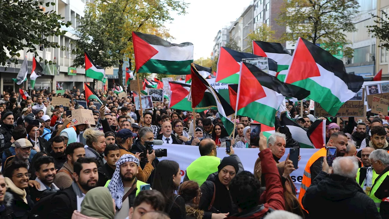
<svg viewBox="0 0 389 219">
<path fill-rule="evenodd" d="M 305 192 L 302 203 L 310 218 L 381 218 L 375 203 L 355 179 L 323 171 Z"/>
</svg>

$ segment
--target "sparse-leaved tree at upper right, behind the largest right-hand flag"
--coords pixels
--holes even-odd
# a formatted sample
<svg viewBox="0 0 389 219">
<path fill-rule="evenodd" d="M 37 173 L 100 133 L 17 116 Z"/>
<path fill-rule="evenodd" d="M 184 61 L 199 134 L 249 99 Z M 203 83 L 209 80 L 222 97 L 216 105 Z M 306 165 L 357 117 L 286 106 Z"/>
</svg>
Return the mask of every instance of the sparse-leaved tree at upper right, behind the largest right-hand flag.
<svg viewBox="0 0 389 219">
<path fill-rule="evenodd" d="M 314 44 L 324 44 L 331 54 L 343 50 L 352 57 L 345 32 L 354 32 L 352 19 L 358 14 L 358 0 L 284 0 L 277 23 L 289 30 L 285 41 L 296 42 L 303 37 Z"/>
</svg>

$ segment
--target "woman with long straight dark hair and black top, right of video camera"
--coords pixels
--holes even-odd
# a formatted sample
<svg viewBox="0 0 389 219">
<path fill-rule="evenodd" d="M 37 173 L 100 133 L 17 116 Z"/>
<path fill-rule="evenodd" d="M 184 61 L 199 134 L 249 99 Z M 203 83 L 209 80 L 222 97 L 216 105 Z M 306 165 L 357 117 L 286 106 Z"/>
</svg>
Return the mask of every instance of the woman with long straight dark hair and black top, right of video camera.
<svg viewBox="0 0 389 219">
<path fill-rule="evenodd" d="M 152 189 L 159 191 L 165 198 L 165 212 L 171 219 L 186 219 L 185 200 L 174 194 L 181 182 L 181 170 L 175 161 L 159 162 Z"/>
</svg>

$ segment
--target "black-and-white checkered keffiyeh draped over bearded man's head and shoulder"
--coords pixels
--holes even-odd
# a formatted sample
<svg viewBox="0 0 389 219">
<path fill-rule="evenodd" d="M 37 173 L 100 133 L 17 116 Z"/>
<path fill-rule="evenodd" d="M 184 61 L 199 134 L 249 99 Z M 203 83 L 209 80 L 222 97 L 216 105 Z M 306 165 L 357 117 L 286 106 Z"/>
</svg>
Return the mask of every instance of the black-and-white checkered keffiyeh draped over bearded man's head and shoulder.
<svg viewBox="0 0 389 219">
<path fill-rule="evenodd" d="M 116 162 L 116 170 L 108 184 L 108 189 L 112 198 L 115 200 L 116 207 L 119 209 L 122 207 L 122 198 L 124 196 L 124 186 L 120 175 L 120 165 L 125 162 L 134 162 L 137 166 L 139 166 L 139 159 L 132 154 L 123 154 L 123 156 L 121 156 Z"/>
</svg>

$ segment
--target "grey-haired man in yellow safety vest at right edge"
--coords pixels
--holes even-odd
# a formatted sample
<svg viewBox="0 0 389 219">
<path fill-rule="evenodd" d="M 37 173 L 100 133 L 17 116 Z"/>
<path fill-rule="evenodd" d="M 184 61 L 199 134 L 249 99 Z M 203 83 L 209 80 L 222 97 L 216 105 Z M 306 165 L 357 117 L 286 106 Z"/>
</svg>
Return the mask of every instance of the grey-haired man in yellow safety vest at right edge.
<svg viewBox="0 0 389 219">
<path fill-rule="evenodd" d="M 382 218 L 389 218 L 389 154 L 384 149 L 370 153 L 370 163 L 379 176 L 373 182 L 370 198 L 377 206 Z"/>
</svg>

